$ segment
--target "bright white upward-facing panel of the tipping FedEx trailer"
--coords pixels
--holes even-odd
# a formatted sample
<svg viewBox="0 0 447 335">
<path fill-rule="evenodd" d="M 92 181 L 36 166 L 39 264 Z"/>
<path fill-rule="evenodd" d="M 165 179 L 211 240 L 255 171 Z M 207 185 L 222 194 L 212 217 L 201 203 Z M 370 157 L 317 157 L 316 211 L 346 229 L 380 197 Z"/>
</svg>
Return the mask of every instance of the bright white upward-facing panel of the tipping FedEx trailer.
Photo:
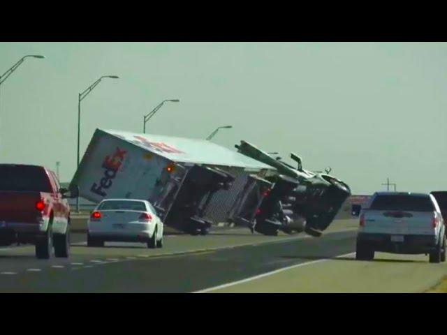
<svg viewBox="0 0 447 335">
<path fill-rule="evenodd" d="M 98 129 L 178 163 L 275 170 L 270 165 L 203 139 Z"/>
</svg>

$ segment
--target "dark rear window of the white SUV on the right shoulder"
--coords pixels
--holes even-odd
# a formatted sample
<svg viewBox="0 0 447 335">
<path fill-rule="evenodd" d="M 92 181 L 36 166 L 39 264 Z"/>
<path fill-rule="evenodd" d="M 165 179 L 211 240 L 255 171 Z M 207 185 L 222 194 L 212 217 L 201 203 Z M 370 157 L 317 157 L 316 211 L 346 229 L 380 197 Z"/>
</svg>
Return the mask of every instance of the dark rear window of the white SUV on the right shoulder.
<svg viewBox="0 0 447 335">
<path fill-rule="evenodd" d="M 428 195 L 377 195 L 369 209 L 376 211 L 434 211 L 434 205 Z"/>
</svg>

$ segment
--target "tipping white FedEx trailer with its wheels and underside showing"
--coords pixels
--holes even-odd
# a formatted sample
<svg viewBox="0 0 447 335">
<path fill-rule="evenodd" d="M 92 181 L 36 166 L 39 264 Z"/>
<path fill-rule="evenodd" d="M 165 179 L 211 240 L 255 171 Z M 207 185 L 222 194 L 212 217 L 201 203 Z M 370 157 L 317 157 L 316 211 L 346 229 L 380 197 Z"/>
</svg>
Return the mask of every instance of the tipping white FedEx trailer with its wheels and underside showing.
<svg viewBox="0 0 447 335">
<path fill-rule="evenodd" d="M 149 200 L 163 223 L 207 234 L 213 223 L 228 221 L 250 175 L 274 174 L 272 166 L 210 141 L 96 129 L 71 187 L 94 203 Z"/>
</svg>

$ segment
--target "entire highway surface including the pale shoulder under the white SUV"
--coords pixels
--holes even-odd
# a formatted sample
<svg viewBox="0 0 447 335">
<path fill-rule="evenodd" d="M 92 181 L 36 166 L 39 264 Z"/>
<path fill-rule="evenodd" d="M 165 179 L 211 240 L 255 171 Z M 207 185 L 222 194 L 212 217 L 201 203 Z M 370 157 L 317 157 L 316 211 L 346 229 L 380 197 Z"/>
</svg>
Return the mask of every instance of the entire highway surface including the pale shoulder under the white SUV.
<svg viewBox="0 0 447 335">
<path fill-rule="evenodd" d="M 323 237 L 267 237 L 233 228 L 165 236 L 165 246 L 106 243 L 73 234 L 71 258 L 37 260 L 33 246 L 0 248 L 0 292 L 423 292 L 447 275 L 424 255 L 354 260 L 356 220 Z"/>
</svg>

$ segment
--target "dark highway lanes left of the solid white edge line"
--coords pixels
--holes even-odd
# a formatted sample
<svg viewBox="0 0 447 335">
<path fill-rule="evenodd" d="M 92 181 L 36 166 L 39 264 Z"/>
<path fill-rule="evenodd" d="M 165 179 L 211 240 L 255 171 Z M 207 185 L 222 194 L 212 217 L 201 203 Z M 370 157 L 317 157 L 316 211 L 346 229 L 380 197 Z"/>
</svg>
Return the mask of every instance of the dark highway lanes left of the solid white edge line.
<svg viewBox="0 0 447 335">
<path fill-rule="evenodd" d="M 124 243 L 88 248 L 85 234 L 72 234 L 68 260 L 37 260 L 33 246 L 0 248 L 0 292 L 194 292 L 352 252 L 356 232 L 339 230 L 313 238 L 236 228 L 205 237 L 166 236 L 161 249 Z"/>
</svg>

